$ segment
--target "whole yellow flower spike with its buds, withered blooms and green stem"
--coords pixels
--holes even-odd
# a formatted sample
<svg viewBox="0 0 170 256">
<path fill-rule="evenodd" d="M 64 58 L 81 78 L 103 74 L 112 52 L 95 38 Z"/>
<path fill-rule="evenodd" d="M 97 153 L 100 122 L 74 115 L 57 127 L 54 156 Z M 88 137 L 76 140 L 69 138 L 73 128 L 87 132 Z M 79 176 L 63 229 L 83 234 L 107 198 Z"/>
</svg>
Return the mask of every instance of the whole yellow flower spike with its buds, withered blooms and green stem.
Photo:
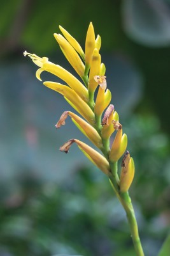
<svg viewBox="0 0 170 256">
<path fill-rule="evenodd" d="M 62 35 L 54 34 L 60 49 L 67 61 L 80 76 L 81 81 L 74 77 L 66 69 L 48 61 L 48 58 L 39 58 L 36 54 L 24 52 L 38 65 L 36 77 L 41 81 L 41 72 L 47 71 L 59 77 L 66 84 L 46 81 L 43 84 L 64 96 L 67 102 L 83 117 L 71 111 L 65 111 L 59 122 L 55 125 L 59 128 L 65 124 L 67 116 L 71 117 L 74 124 L 80 129 L 92 143 L 101 150 L 102 154 L 80 140 L 71 139 L 60 147 L 61 151 L 68 152 L 73 143 L 92 163 L 101 169 L 110 179 L 115 193 L 127 212 L 127 218 L 131 227 L 132 240 L 137 255 L 143 255 L 141 243 L 138 237 L 138 226 L 129 197 L 128 190 L 134 177 L 134 161 L 129 152 L 125 153 L 122 161 L 122 171 L 118 175 L 117 162 L 124 154 L 127 147 L 127 136 L 123 134 L 122 125 L 119 123 L 118 113 L 111 101 L 111 92 L 107 89 L 106 68 L 101 62 L 99 50 L 101 37 L 95 37 L 94 27 L 90 22 L 85 40 L 85 53 L 80 44 L 66 29 L 59 26 Z M 97 96 L 95 92 L 97 90 Z M 110 137 L 116 132 L 115 139 L 110 145 Z M 140 252 L 140 254 L 139 254 Z"/>
</svg>

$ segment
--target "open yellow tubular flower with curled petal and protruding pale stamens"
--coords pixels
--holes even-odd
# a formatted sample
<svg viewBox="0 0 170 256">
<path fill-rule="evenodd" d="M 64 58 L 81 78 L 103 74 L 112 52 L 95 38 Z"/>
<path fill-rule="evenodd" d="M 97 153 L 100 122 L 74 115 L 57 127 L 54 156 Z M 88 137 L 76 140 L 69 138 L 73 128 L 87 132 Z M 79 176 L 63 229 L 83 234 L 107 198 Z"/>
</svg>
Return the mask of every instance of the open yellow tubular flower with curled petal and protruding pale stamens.
<svg viewBox="0 0 170 256">
<path fill-rule="evenodd" d="M 43 57 L 40 58 L 36 56 L 36 54 L 31 54 L 29 52 L 24 52 L 24 56 L 28 55 L 31 60 L 40 67 L 36 72 L 37 79 L 41 80 L 41 72 L 46 71 L 50 72 L 53 75 L 59 77 L 64 82 L 66 82 L 80 97 L 85 100 L 85 102 L 89 101 L 89 93 L 87 88 L 83 86 L 83 84 L 76 79 L 71 73 L 69 73 L 66 69 L 60 67 L 59 65 L 55 65 L 54 63 L 48 61 L 48 58 Z"/>
</svg>

